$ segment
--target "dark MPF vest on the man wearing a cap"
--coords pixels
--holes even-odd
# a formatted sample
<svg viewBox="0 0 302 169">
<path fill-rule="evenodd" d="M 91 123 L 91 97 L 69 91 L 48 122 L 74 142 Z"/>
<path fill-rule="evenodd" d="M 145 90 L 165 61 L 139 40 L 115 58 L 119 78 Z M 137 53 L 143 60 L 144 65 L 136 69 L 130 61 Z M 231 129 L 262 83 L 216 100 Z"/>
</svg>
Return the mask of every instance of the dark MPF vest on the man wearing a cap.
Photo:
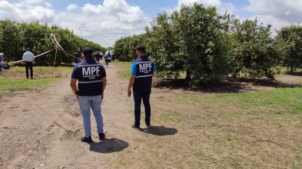
<svg viewBox="0 0 302 169">
<path fill-rule="evenodd" d="M 78 63 L 78 95 L 99 96 L 103 94 L 102 78 L 106 76 L 104 66 L 94 58 Z"/>
</svg>

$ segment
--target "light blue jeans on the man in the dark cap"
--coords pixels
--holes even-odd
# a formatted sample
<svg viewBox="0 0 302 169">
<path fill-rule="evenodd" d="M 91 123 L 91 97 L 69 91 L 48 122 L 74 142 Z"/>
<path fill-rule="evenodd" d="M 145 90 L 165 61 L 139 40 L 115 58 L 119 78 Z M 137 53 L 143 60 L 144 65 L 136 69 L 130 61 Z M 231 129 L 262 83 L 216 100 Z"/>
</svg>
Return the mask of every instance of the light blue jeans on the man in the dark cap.
<svg viewBox="0 0 302 169">
<path fill-rule="evenodd" d="M 103 117 L 101 114 L 102 95 L 99 96 L 79 96 L 79 104 L 83 117 L 85 137 L 91 136 L 90 108 L 97 122 L 97 134 L 104 133 Z"/>
</svg>

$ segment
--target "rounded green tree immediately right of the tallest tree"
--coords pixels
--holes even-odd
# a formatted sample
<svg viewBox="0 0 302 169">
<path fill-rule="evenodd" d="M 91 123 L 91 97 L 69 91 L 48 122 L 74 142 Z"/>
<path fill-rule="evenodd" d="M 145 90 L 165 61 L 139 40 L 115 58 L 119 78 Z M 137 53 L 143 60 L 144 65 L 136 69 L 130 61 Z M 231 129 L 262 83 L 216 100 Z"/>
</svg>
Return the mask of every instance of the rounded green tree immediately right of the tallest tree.
<svg viewBox="0 0 302 169">
<path fill-rule="evenodd" d="M 257 19 L 235 19 L 229 35 L 229 52 L 231 59 L 230 73 L 234 77 L 244 74 L 249 78 L 274 79 L 276 71 L 272 67 L 277 63 L 276 50 L 273 46 L 270 28 L 258 25 Z"/>
</svg>

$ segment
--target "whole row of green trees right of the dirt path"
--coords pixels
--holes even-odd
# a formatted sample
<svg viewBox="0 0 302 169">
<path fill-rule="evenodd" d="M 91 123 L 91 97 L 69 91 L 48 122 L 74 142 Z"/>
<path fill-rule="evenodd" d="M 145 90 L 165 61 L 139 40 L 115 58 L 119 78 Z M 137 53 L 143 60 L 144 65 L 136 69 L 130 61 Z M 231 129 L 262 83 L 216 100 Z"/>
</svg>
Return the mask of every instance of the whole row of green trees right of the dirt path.
<svg viewBox="0 0 302 169">
<path fill-rule="evenodd" d="M 168 15 L 165 11 L 145 27 L 146 33 L 117 39 L 117 59 L 132 61 L 135 47 L 145 45 L 147 55 L 159 75 L 177 78 L 187 73 L 187 80 L 216 81 L 234 78 L 274 79 L 278 64 L 300 68 L 302 64 L 302 27 L 282 28 L 272 38 L 271 25 L 255 20 L 240 21 L 228 13 L 219 15 L 215 7 L 182 5 Z"/>
</svg>

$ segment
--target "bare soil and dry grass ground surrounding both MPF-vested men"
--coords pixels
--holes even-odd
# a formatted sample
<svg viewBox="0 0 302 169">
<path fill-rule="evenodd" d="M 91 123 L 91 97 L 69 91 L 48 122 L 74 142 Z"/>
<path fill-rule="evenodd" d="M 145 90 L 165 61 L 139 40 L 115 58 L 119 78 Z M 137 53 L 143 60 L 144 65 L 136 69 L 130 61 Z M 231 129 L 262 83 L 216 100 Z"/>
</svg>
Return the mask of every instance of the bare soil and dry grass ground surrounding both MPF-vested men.
<svg viewBox="0 0 302 169">
<path fill-rule="evenodd" d="M 195 100 L 217 93 L 271 90 L 302 82 L 282 75 L 279 82 L 234 82 L 191 88 L 154 80 L 151 128 L 131 128 L 132 97 L 128 79 L 107 68 L 102 105 L 106 140 L 99 141 L 91 116 L 92 144 L 83 136 L 78 102 L 69 76 L 47 88 L 0 98 L 0 168 L 2 169 L 192 169 L 299 168 L 302 130 L 299 115 L 269 116 L 237 109 L 219 100 Z M 260 83 L 262 85 L 260 85 Z M 218 104 L 219 103 L 219 104 Z M 142 112 L 143 110 L 142 105 Z M 252 112 L 252 113 L 251 113 Z M 278 122 L 282 124 L 278 125 Z M 197 127 L 193 127 L 197 126 Z M 280 127 L 281 126 L 281 127 Z M 276 142 L 254 139 L 262 138 Z M 301 158 L 301 160 L 299 159 Z"/>
</svg>

